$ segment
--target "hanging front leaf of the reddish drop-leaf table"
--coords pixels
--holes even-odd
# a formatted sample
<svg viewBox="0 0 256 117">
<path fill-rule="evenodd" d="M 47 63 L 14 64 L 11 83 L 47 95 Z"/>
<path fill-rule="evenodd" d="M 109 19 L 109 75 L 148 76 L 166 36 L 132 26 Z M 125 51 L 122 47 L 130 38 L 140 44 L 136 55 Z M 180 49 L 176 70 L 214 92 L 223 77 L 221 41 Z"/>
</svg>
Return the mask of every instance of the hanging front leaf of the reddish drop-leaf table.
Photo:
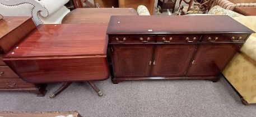
<svg viewBox="0 0 256 117">
<path fill-rule="evenodd" d="M 22 79 L 33 83 L 106 80 L 106 56 L 6 59 Z"/>
</svg>

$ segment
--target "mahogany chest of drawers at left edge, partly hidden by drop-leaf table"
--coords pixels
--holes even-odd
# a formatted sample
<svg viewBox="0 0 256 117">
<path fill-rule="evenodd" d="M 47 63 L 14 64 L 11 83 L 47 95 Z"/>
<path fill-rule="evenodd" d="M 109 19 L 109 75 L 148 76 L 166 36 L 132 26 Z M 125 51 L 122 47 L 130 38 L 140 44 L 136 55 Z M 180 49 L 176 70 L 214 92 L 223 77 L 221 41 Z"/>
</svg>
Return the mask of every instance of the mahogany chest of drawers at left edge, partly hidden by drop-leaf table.
<svg viewBox="0 0 256 117">
<path fill-rule="evenodd" d="M 46 93 L 44 84 L 32 84 L 22 80 L 2 60 L 15 45 L 36 28 L 31 17 L 5 16 L 0 20 L 0 90 L 34 91 L 38 96 Z"/>
</svg>

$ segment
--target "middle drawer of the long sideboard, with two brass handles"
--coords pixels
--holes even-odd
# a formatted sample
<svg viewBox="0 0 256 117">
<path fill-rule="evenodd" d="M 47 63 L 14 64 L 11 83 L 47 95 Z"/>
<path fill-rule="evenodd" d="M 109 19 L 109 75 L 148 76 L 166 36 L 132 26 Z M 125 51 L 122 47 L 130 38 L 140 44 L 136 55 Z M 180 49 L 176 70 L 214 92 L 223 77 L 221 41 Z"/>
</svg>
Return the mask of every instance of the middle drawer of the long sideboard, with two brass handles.
<svg viewBox="0 0 256 117">
<path fill-rule="evenodd" d="M 201 35 L 159 35 L 157 36 L 157 42 L 199 42 Z"/>
</svg>

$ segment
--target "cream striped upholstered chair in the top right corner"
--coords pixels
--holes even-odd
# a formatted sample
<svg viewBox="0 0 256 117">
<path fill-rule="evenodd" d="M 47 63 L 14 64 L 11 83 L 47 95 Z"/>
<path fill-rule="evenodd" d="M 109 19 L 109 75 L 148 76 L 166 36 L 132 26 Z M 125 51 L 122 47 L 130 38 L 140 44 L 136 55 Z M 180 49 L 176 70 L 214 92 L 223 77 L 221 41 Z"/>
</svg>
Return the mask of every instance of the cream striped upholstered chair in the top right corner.
<svg viewBox="0 0 256 117">
<path fill-rule="evenodd" d="M 233 10 L 235 7 L 256 7 L 256 0 L 216 0 L 215 3 L 213 3 L 213 6 L 216 5 L 225 9 Z"/>
</svg>

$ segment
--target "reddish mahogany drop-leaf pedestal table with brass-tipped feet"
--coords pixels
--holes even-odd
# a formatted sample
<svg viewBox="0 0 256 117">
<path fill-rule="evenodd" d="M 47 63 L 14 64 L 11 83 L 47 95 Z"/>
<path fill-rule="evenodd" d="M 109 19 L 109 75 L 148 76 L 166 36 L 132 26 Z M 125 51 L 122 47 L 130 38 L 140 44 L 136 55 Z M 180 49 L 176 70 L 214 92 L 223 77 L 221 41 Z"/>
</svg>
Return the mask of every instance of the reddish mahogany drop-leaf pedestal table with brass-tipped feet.
<svg viewBox="0 0 256 117">
<path fill-rule="evenodd" d="M 107 27 L 108 23 L 40 25 L 3 61 L 25 81 L 66 82 L 50 97 L 74 81 L 89 81 L 102 96 L 92 81 L 109 78 Z"/>
</svg>

